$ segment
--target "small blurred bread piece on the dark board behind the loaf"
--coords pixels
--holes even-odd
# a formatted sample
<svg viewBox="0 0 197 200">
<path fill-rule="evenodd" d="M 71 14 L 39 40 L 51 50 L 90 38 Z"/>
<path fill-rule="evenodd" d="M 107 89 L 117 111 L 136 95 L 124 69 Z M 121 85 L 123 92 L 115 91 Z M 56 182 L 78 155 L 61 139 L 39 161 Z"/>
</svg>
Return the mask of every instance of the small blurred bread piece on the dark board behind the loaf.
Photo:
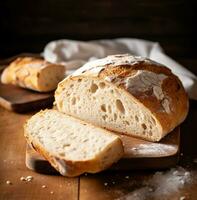
<svg viewBox="0 0 197 200">
<path fill-rule="evenodd" d="M 56 89 L 65 77 L 65 67 L 32 57 L 17 58 L 1 75 L 4 84 L 18 85 L 39 92 Z"/>
</svg>

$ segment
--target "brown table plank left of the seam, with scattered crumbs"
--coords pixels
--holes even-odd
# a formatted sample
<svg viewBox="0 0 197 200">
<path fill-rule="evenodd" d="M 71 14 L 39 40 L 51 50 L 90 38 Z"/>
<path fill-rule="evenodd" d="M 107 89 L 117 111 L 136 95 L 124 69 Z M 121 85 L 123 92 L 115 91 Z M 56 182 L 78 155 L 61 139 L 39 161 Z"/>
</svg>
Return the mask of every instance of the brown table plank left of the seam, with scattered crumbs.
<svg viewBox="0 0 197 200">
<path fill-rule="evenodd" d="M 42 175 L 26 168 L 23 123 L 30 116 L 0 107 L 0 199 L 77 200 L 78 178 Z M 29 175 L 33 177 L 31 182 L 20 180 L 20 177 Z M 7 185 L 7 180 L 12 185 Z M 42 188 L 42 185 L 46 185 L 46 188 Z"/>
</svg>

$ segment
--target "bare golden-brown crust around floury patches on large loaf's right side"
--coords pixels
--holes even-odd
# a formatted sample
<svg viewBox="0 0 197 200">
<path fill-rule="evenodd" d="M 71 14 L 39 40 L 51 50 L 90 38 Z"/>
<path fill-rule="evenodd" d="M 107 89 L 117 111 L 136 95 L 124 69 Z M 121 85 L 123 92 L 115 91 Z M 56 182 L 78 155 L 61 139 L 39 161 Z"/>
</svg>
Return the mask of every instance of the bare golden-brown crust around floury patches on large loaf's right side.
<svg viewBox="0 0 197 200">
<path fill-rule="evenodd" d="M 138 70 L 151 71 L 156 74 L 165 74 L 167 78 L 163 80 L 162 90 L 168 100 L 170 101 L 170 112 L 164 112 L 162 109 L 162 101 L 152 95 L 152 90 L 144 93 L 131 93 L 127 90 L 125 84 L 118 83 L 118 85 L 133 95 L 139 100 L 145 107 L 147 107 L 157 120 L 162 125 L 164 132 L 168 133 L 174 129 L 178 124 L 183 122 L 188 113 L 188 96 L 185 92 L 181 81 L 175 76 L 170 69 L 164 66 L 150 65 L 146 63 L 139 63 L 134 66 L 117 66 L 117 67 L 106 67 L 99 74 L 99 78 L 105 79 L 106 77 L 113 74 L 116 78 L 112 83 L 116 84 L 116 80 L 125 79 L 133 74 L 136 74 Z"/>
</svg>

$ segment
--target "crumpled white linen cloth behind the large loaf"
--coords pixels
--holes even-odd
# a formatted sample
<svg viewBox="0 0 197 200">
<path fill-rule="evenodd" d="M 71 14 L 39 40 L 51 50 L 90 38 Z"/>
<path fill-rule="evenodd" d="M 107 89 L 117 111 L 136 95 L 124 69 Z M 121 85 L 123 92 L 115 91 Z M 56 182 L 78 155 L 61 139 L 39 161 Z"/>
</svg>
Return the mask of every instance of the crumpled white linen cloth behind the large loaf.
<svg viewBox="0 0 197 200">
<path fill-rule="evenodd" d="M 72 73 L 87 61 L 122 53 L 148 57 L 166 65 L 180 78 L 189 97 L 197 100 L 197 76 L 168 57 L 157 42 L 132 38 L 89 42 L 63 39 L 48 43 L 44 48 L 43 56 L 47 61 L 65 64 Z"/>
</svg>

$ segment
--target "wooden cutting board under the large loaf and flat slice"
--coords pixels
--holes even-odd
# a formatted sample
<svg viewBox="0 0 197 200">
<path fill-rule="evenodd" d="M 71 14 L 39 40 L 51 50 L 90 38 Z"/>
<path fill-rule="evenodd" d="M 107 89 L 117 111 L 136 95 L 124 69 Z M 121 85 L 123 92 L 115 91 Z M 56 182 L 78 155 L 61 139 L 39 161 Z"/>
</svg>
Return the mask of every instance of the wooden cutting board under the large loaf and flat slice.
<svg viewBox="0 0 197 200">
<path fill-rule="evenodd" d="M 180 128 L 177 127 L 159 143 L 121 136 L 125 155 L 111 170 L 164 169 L 176 165 L 179 159 Z M 51 165 L 29 145 L 26 166 L 39 173 L 57 174 Z"/>
</svg>

